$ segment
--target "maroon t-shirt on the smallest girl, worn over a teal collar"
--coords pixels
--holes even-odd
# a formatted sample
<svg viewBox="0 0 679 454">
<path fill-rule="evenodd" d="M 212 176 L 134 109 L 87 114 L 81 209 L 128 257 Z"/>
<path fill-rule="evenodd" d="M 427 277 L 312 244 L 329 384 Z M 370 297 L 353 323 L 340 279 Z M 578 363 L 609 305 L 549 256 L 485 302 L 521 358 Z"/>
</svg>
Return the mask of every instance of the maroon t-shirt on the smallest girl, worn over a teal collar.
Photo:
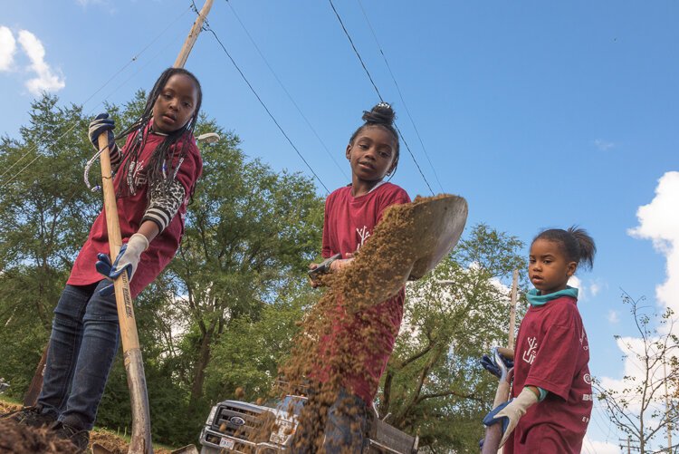
<svg viewBox="0 0 679 454">
<path fill-rule="evenodd" d="M 519 420 L 505 454 L 580 452 L 592 411 L 588 362 L 575 298 L 561 296 L 529 308 L 516 341 L 512 396 L 528 385 L 549 393 Z"/>
</svg>

